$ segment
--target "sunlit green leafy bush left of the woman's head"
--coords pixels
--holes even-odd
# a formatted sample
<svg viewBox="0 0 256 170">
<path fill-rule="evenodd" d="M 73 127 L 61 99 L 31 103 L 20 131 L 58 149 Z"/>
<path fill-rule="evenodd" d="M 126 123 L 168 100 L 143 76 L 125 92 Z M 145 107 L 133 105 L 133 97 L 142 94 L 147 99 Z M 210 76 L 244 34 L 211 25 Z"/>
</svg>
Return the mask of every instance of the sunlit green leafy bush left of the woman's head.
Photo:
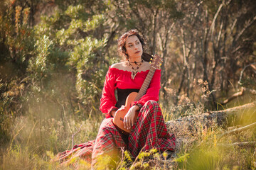
<svg viewBox="0 0 256 170">
<path fill-rule="evenodd" d="M 85 11 L 81 5 L 69 6 L 66 11 L 57 10 L 53 16 L 42 18 L 35 28 L 37 54 L 30 60 L 28 72 L 33 89 L 47 88 L 48 93 L 58 98 L 60 103 L 78 94 L 78 102 L 84 108 L 98 111 L 94 106 L 98 105 L 106 72 L 99 59 L 105 38 L 97 40 L 93 32 L 102 26 L 105 18 L 102 15 L 91 16 Z M 90 31 L 92 33 L 86 35 Z M 63 77 L 63 80 L 59 79 L 60 84 L 53 84 L 56 77 Z M 68 89 L 72 89 L 71 96 L 67 94 L 70 93 L 66 91 Z M 63 92 L 66 96 L 61 95 Z"/>
</svg>

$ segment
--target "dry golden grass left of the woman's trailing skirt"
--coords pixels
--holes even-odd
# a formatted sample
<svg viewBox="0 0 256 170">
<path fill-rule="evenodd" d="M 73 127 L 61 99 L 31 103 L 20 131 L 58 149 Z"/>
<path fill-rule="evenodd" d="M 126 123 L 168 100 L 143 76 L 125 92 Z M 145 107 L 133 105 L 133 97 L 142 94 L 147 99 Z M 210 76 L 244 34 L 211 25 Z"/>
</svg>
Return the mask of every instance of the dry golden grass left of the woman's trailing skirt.
<svg viewBox="0 0 256 170">
<path fill-rule="evenodd" d="M 58 169 L 58 164 L 50 163 L 51 157 L 70 149 L 72 144 L 95 139 L 102 118 L 35 118 L 28 113 L 6 119 L 1 131 L 9 140 L 1 142 L 0 169 Z M 75 132 L 78 133 L 74 135 Z"/>
</svg>

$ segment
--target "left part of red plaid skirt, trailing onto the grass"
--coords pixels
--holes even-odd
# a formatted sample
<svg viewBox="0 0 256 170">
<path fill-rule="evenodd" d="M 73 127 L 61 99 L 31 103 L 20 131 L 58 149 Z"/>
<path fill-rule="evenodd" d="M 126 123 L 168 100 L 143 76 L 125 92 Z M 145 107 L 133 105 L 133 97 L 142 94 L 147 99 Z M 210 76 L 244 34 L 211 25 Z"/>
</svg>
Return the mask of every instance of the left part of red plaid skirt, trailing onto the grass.
<svg viewBox="0 0 256 170">
<path fill-rule="evenodd" d="M 117 154 L 117 149 L 127 147 L 124 140 L 112 123 L 113 118 L 105 118 L 100 125 L 96 140 L 75 145 L 73 149 L 58 154 L 58 161 L 69 164 L 73 158 L 83 158 L 95 164 L 102 154 Z"/>
</svg>

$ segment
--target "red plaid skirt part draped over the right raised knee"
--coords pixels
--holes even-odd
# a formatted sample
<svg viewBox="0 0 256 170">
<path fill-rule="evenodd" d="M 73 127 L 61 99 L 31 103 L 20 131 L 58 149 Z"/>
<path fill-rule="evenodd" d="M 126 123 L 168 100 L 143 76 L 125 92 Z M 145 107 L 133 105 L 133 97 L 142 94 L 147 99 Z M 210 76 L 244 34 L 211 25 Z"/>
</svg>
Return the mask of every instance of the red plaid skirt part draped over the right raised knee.
<svg viewBox="0 0 256 170">
<path fill-rule="evenodd" d="M 152 148 L 161 152 L 174 152 L 175 137 L 167 131 L 159 104 L 156 101 L 147 101 L 132 127 L 128 150 L 135 158 L 141 150 L 147 151 Z"/>
</svg>

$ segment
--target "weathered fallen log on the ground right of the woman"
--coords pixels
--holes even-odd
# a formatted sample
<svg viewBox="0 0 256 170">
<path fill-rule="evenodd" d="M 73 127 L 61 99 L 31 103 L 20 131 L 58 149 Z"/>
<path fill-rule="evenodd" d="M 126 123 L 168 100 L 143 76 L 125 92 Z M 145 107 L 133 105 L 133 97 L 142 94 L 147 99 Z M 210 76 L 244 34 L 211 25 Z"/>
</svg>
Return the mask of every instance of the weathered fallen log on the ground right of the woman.
<svg viewBox="0 0 256 170">
<path fill-rule="evenodd" d="M 256 102 L 247 103 L 242 106 L 228 108 L 223 111 L 208 111 L 200 115 L 189 115 L 176 120 L 166 122 L 169 132 L 174 133 L 177 138 L 177 147 L 183 142 L 193 142 L 193 136 L 198 132 L 213 128 L 215 125 L 228 126 L 228 120 L 233 120 L 234 117 L 239 118 L 245 114 L 245 110 L 255 111 Z"/>
</svg>

